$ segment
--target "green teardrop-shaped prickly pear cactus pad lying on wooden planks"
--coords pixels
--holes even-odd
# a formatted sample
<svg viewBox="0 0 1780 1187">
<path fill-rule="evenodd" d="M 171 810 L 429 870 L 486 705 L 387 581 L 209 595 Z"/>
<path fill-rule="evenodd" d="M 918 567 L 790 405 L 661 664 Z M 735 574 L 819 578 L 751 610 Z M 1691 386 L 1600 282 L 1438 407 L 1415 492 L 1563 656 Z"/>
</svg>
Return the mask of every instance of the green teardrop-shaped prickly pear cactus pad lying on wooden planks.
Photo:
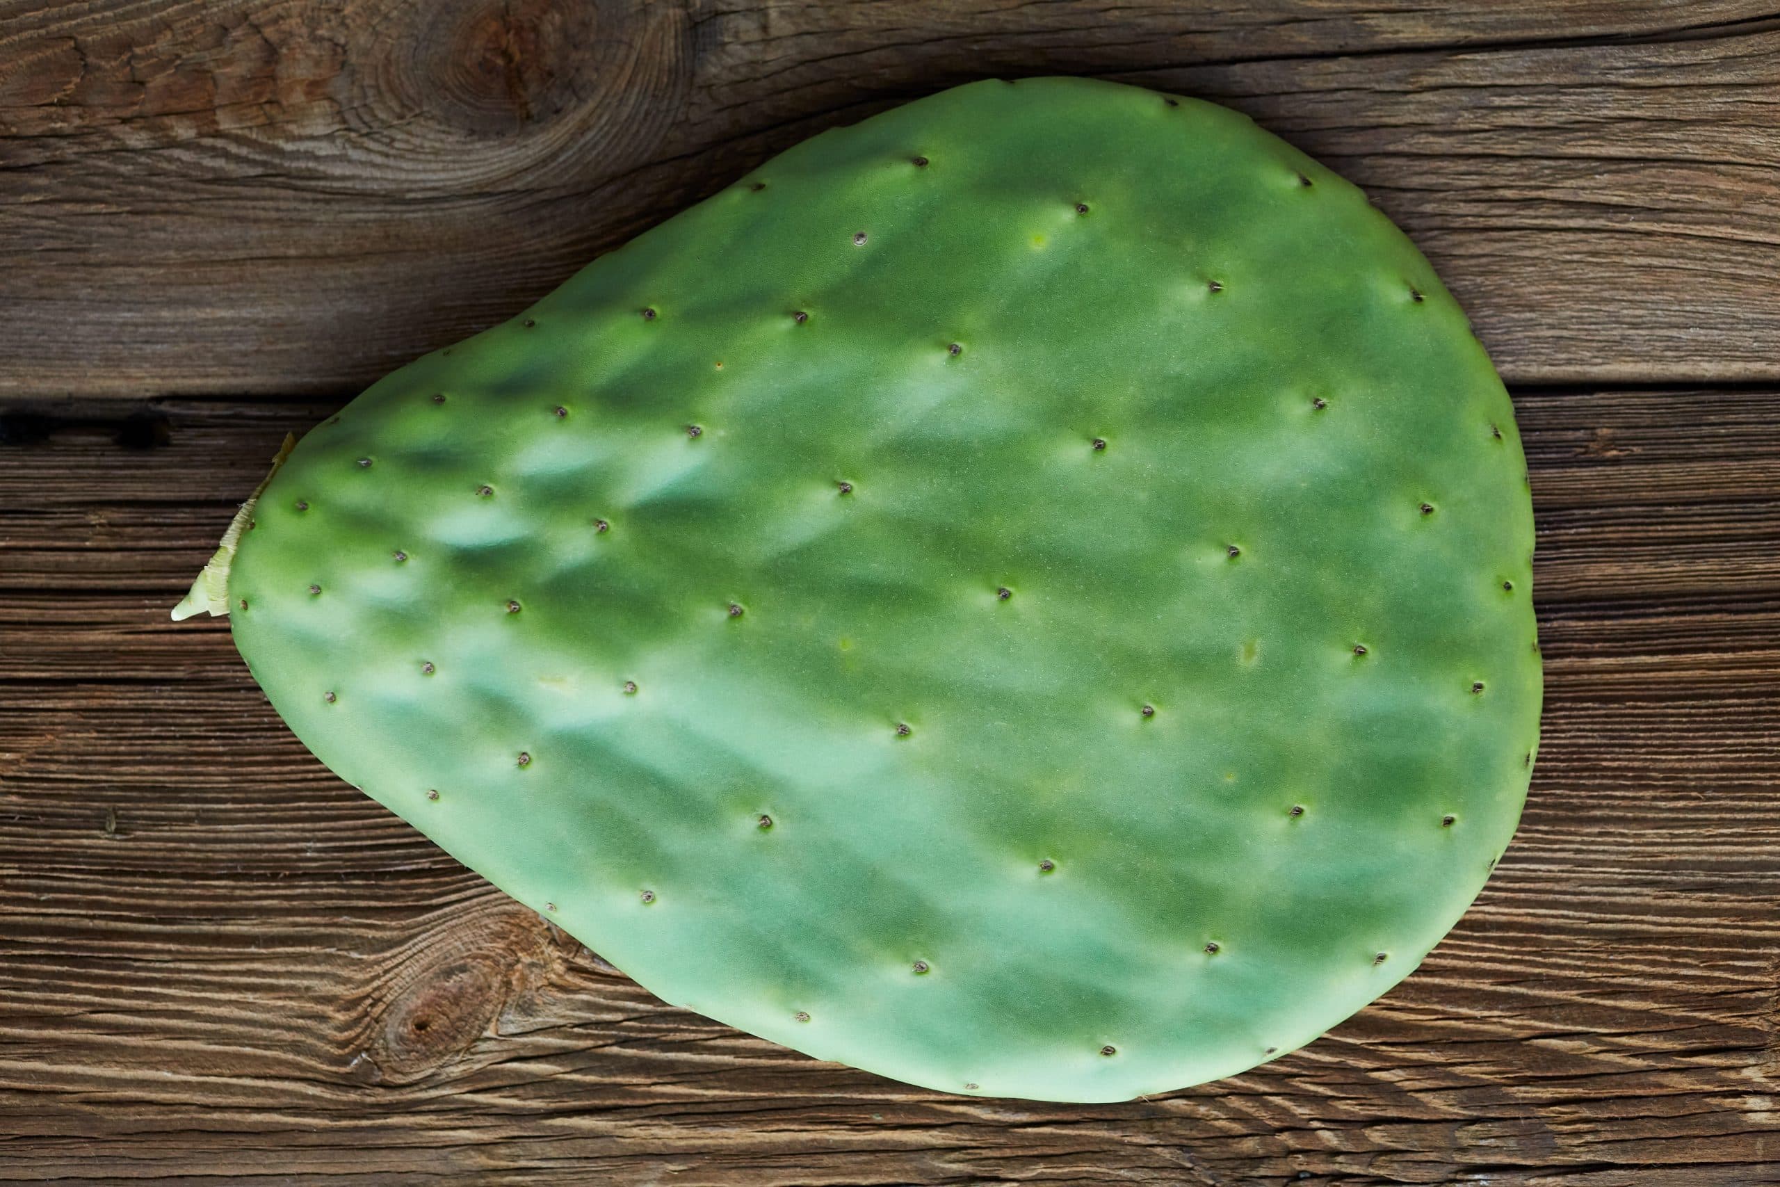
<svg viewBox="0 0 1780 1187">
<path fill-rule="evenodd" d="M 1312 1041 L 1533 765 L 1465 315 L 1353 185 L 1152 91 L 819 135 L 374 384 L 249 514 L 235 639 L 344 779 L 668 1002 L 949 1093 Z"/>
</svg>

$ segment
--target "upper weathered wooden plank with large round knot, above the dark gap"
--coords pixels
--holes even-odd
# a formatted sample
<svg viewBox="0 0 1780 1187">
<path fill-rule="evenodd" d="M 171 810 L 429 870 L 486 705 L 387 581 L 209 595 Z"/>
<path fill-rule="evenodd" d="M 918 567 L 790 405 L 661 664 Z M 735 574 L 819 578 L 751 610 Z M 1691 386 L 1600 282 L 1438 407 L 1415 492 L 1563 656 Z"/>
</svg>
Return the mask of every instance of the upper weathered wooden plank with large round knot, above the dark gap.
<svg viewBox="0 0 1780 1187">
<path fill-rule="evenodd" d="M 0 0 L 0 392 L 345 395 L 986 75 L 1232 103 L 1515 381 L 1780 379 L 1762 0 Z"/>
</svg>

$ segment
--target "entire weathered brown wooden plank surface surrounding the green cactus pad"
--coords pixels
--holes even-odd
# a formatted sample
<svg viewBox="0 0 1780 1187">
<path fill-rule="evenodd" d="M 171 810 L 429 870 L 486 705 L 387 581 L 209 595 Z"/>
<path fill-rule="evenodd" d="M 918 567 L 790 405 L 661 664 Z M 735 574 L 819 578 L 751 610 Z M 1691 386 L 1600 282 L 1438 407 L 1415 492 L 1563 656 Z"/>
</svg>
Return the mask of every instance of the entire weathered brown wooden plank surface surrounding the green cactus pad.
<svg viewBox="0 0 1780 1187">
<path fill-rule="evenodd" d="M 0 1180 L 1780 1183 L 1775 0 L 0 0 Z M 1362 183 L 1515 390 L 1545 740 L 1301 1054 L 963 1100 L 669 1009 L 167 607 L 287 431 L 767 155 L 986 75 Z"/>
</svg>

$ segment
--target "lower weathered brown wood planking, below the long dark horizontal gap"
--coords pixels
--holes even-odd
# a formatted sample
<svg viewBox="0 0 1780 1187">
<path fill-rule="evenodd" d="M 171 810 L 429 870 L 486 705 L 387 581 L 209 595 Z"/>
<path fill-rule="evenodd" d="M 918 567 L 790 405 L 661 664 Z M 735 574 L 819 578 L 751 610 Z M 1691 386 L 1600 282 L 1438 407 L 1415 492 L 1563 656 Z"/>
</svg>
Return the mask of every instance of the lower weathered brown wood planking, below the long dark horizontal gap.
<svg viewBox="0 0 1780 1187">
<path fill-rule="evenodd" d="M 669 1009 L 173 625 L 292 400 L 0 404 L 0 1180 L 1780 1183 L 1780 392 L 1527 390 L 1549 703 L 1408 982 L 1223 1084 L 951 1098 Z"/>
</svg>

